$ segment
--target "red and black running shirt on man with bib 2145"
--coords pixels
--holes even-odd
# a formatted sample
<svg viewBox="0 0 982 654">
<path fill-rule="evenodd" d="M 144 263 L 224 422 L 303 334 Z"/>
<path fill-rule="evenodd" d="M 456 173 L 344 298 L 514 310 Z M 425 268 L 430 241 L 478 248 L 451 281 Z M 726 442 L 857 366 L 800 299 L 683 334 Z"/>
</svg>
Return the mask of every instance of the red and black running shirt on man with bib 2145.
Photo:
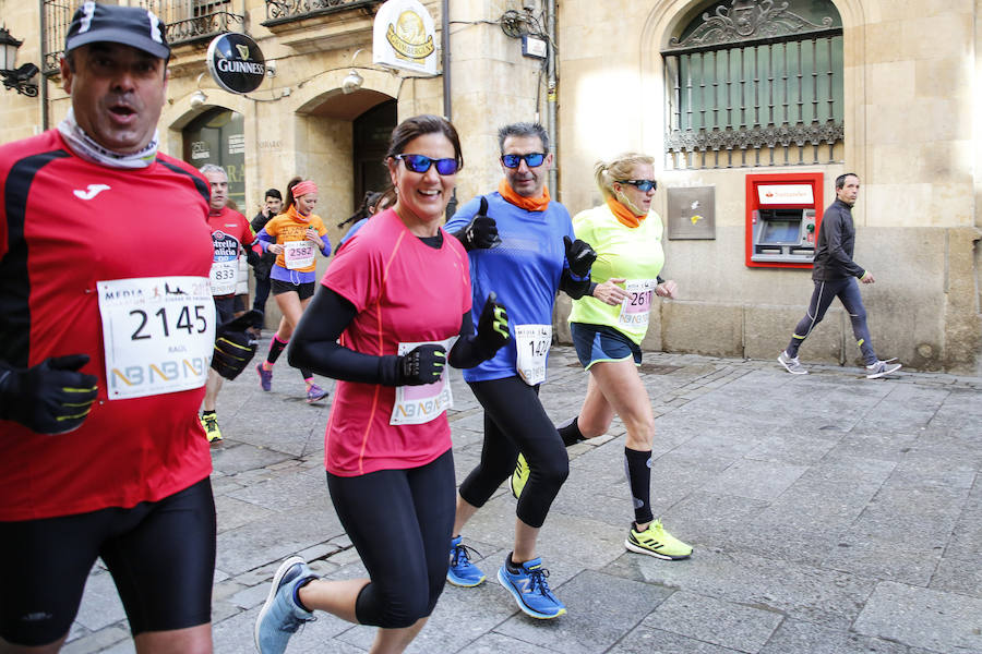
<svg viewBox="0 0 982 654">
<path fill-rule="evenodd" d="M 0 146 L 0 358 L 28 367 L 84 353 L 91 361 L 82 372 L 99 385 L 92 412 L 71 433 L 0 421 L 0 521 L 128 508 L 211 473 L 197 419 L 203 387 L 110 398 L 107 343 L 130 330 L 104 334 L 97 292 L 107 282 L 159 280 L 146 288 L 177 295 L 192 278 L 206 292 L 207 201 L 204 178 L 163 154 L 147 168 L 108 168 L 72 154 L 55 130 Z M 206 317 L 192 312 L 191 324 Z M 133 335 L 156 325 L 137 325 Z"/>
</svg>

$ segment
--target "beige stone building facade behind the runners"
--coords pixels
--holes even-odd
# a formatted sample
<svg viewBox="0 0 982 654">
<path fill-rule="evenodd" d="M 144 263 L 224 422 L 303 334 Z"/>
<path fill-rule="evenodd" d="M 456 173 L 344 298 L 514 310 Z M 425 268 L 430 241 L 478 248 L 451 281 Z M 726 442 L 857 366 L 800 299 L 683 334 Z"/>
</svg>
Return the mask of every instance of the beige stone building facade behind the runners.
<svg viewBox="0 0 982 654">
<path fill-rule="evenodd" d="M 450 44 L 446 80 L 372 63 L 374 0 L 144 4 L 177 37 L 164 149 L 230 166 L 247 216 L 265 189 L 311 178 L 336 242 L 361 193 L 385 181 L 387 131 L 422 112 L 448 111 L 460 132 L 463 203 L 498 183 L 498 126 L 539 119 L 555 140 L 553 196 L 574 214 L 600 202 L 594 162 L 624 150 L 656 158 L 667 222 L 680 190 L 712 201 L 711 229 L 669 230 L 666 274 L 681 293 L 656 303 L 646 347 L 769 359 L 812 284 L 806 268 L 747 265 L 747 175 L 821 173 L 827 205 L 835 178 L 851 171 L 862 180 L 855 258 L 877 279 L 863 287 L 877 351 L 914 368 L 982 373 L 982 0 L 423 0 L 441 55 Z M 55 8 L 0 0 L 24 41 L 19 62 L 52 68 L 68 11 Z M 209 36 L 226 28 L 275 61 L 246 96 L 205 69 Z M 554 70 L 526 56 L 529 40 L 554 46 Z M 344 93 L 352 69 L 363 81 Z M 38 97 L 3 94 L 0 140 L 64 116 L 57 74 L 45 80 Z M 566 306 L 561 299 L 561 339 Z M 858 362 L 836 306 L 803 359 Z"/>
</svg>

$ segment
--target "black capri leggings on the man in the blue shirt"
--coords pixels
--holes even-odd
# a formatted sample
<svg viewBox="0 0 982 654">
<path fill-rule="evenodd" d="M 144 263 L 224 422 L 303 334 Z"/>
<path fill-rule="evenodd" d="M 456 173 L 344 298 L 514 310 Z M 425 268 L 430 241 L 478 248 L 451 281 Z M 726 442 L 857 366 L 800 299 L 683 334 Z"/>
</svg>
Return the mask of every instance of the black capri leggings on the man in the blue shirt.
<svg viewBox="0 0 982 654">
<path fill-rule="evenodd" d="M 520 451 L 530 474 L 516 514 L 529 526 L 542 526 L 570 475 L 570 457 L 542 409 L 539 387 L 528 386 L 518 377 L 505 377 L 471 382 L 470 388 L 484 408 L 484 445 L 480 463 L 460 484 L 460 497 L 475 507 L 484 506 L 515 470 Z"/>
</svg>

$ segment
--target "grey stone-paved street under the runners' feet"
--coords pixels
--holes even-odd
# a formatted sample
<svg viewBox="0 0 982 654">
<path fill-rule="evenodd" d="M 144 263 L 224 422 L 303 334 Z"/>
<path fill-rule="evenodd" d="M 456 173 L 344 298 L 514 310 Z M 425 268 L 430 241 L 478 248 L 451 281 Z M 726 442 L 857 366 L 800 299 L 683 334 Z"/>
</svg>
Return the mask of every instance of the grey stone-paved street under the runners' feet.
<svg viewBox="0 0 982 654">
<path fill-rule="evenodd" d="M 549 582 L 568 614 L 529 619 L 493 581 L 514 530 L 505 484 L 464 532 L 490 581 L 447 585 L 409 652 L 982 652 L 982 379 L 811 372 L 646 353 L 657 416 L 652 505 L 695 546 L 693 557 L 625 550 L 632 513 L 615 421 L 608 435 L 568 450 L 570 479 L 541 532 Z M 480 455 L 482 414 L 454 375 L 450 420 L 463 480 Z M 570 348 L 553 349 L 541 392 L 553 420 L 577 412 L 586 378 Z M 300 374 L 284 362 L 272 392 L 247 371 L 219 398 L 217 653 L 253 651 L 253 621 L 285 557 L 299 554 L 330 578 L 364 574 L 324 481 L 330 401 L 302 397 Z M 373 631 L 321 615 L 288 652 L 363 653 Z M 101 568 L 64 647 L 97 651 L 133 652 Z"/>
</svg>

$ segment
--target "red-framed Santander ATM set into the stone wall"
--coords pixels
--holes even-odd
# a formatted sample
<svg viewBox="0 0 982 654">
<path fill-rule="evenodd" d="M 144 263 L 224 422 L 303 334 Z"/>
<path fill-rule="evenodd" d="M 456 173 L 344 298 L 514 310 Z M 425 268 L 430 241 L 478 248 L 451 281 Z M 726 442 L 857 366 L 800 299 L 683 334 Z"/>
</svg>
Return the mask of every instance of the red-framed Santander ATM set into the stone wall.
<svg viewBox="0 0 982 654">
<path fill-rule="evenodd" d="M 821 172 L 746 175 L 746 265 L 811 268 L 822 219 Z"/>
</svg>

